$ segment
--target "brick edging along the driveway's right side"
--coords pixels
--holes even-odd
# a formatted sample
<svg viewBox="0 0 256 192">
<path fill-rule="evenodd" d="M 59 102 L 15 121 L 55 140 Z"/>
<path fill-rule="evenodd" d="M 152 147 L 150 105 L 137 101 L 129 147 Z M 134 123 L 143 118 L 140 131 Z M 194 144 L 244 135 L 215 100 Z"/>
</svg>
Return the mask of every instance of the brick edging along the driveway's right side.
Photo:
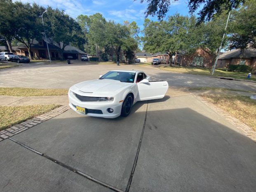
<svg viewBox="0 0 256 192">
<path fill-rule="evenodd" d="M 240 129 L 245 132 L 246 136 L 251 138 L 256 142 L 256 132 L 251 129 L 251 127 L 247 126 L 240 120 L 236 119 L 235 117 L 232 117 L 228 112 L 225 112 L 224 110 L 216 107 L 216 105 L 206 101 L 201 96 L 195 95 L 198 99 L 200 99 L 203 103 L 205 103 L 208 107 L 210 107 L 212 110 L 220 114 L 224 119 L 227 119 L 233 126 L 235 126 L 237 129 Z"/>
</svg>

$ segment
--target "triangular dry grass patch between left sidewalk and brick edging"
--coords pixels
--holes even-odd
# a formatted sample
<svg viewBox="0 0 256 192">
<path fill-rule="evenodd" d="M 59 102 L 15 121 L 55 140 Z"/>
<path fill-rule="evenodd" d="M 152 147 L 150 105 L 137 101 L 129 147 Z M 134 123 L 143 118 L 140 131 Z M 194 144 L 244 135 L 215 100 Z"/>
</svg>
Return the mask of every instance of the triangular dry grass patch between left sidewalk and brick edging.
<svg viewBox="0 0 256 192">
<path fill-rule="evenodd" d="M 0 130 L 19 124 L 61 105 L 0 106 Z"/>
</svg>

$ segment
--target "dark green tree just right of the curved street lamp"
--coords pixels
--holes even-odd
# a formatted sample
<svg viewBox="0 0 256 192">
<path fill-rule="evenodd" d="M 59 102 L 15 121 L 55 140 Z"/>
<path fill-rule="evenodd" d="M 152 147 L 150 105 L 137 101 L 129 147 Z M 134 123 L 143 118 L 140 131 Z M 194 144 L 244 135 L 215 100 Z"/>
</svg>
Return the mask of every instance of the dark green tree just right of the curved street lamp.
<svg viewBox="0 0 256 192">
<path fill-rule="evenodd" d="M 63 59 L 63 52 L 66 46 L 77 43 L 81 40 L 81 28 L 79 24 L 64 11 L 47 8 L 45 23 L 49 40 L 59 48 L 60 58 Z"/>
</svg>

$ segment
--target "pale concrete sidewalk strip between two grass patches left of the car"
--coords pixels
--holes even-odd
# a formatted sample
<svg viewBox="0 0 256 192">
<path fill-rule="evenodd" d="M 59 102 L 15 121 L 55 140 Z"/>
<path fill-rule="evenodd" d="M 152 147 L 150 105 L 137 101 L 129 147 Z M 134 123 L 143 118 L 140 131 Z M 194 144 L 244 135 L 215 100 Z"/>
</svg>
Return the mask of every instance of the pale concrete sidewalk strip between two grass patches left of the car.
<svg viewBox="0 0 256 192">
<path fill-rule="evenodd" d="M 21 106 L 21 105 L 49 105 L 49 104 L 68 104 L 68 96 L 37 96 L 37 97 L 18 97 L 0 96 L 0 106 Z"/>
</svg>

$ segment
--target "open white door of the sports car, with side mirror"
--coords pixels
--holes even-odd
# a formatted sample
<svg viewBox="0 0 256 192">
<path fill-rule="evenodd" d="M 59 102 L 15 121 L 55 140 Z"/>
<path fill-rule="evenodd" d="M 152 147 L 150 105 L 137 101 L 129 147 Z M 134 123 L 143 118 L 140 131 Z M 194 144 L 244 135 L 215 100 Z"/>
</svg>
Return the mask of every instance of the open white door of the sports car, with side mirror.
<svg viewBox="0 0 256 192">
<path fill-rule="evenodd" d="M 169 85 L 167 81 L 153 81 L 149 82 L 143 79 L 137 83 L 139 90 L 139 101 L 146 101 L 152 99 L 164 98 Z"/>
</svg>

